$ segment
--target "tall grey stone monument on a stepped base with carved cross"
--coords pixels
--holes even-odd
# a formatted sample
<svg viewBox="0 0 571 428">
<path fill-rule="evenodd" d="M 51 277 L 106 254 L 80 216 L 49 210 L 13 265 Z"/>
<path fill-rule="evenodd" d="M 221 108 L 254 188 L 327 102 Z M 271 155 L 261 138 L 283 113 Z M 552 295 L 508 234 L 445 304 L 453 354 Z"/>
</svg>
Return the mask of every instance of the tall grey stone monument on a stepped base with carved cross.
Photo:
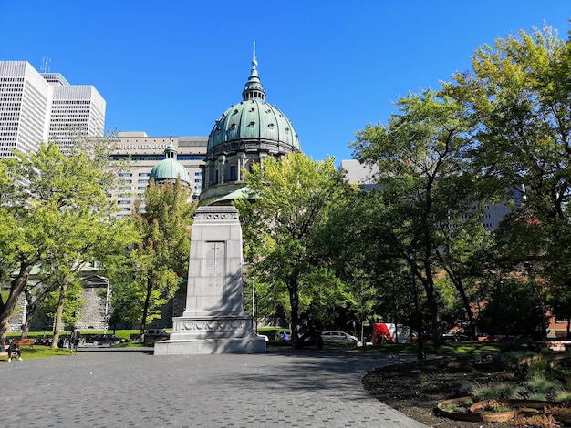
<svg viewBox="0 0 571 428">
<path fill-rule="evenodd" d="M 261 353 L 265 339 L 244 312 L 242 228 L 232 206 L 199 207 L 191 236 L 186 309 L 154 354 Z"/>
</svg>

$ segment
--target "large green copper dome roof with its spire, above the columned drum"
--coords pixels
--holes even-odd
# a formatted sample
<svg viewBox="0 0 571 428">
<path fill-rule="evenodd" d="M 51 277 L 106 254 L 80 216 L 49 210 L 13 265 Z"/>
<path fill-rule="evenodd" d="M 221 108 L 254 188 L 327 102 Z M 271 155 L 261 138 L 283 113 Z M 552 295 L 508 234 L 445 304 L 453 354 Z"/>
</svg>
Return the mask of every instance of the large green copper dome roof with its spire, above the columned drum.
<svg viewBox="0 0 571 428">
<path fill-rule="evenodd" d="M 252 59 L 252 71 L 242 92 L 243 101 L 228 108 L 213 127 L 208 138 L 208 150 L 217 146 L 232 146 L 240 141 L 273 142 L 301 151 L 296 129 L 284 113 L 265 102 L 265 91 L 258 77 L 257 61 Z"/>
</svg>

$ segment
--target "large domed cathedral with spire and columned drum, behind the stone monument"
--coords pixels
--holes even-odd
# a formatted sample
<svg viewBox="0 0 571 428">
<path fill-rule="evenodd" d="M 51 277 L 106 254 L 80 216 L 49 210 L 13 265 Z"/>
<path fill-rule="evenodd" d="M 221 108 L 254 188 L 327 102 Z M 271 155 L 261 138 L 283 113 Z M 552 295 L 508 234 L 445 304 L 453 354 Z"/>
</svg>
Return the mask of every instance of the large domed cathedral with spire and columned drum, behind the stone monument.
<svg viewBox="0 0 571 428">
<path fill-rule="evenodd" d="M 265 102 L 257 61 L 242 92 L 242 102 L 223 112 L 208 137 L 201 205 L 229 205 L 244 191 L 242 169 L 251 170 L 268 156 L 301 151 L 299 138 L 284 113 Z"/>
</svg>

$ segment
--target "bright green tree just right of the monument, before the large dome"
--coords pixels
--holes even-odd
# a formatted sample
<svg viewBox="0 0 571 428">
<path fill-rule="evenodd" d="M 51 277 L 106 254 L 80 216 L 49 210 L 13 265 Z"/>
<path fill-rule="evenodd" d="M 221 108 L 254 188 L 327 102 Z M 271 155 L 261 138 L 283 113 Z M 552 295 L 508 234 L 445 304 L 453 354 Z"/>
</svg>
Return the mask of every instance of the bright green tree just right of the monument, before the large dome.
<svg viewBox="0 0 571 428">
<path fill-rule="evenodd" d="M 266 158 L 244 171 L 247 197 L 234 201 L 244 234 L 246 274 L 267 284 L 275 301 L 287 294 L 291 322 L 319 305 L 328 285 L 337 283 L 317 258 L 315 231 L 327 205 L 335 203 L 342 175 L 333 158 L 314 162 L 302 153 Z M 318 310 L 320 311 L 320 310 Z M 296 334 L 296 331 L 294 332 Z"/>
</svg>

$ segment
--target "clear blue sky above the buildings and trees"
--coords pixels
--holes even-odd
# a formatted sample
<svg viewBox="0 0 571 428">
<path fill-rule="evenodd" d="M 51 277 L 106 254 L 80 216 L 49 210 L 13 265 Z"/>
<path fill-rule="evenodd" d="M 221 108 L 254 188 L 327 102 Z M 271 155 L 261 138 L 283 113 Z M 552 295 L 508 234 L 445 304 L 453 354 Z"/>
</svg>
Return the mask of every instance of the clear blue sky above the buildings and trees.
<svg viewBox="0 0 571 428">
<path fill-rule="evenodd" d="M 0 0 L 0 60 L 25 60 L 107 101 L 106 130 L 207 136 L 242 100 L 252 44 L 266 101 L 304 152 L 351 158 L 392 103 L 440 88 L 478 46 L 552 26 L 567 39 L 571 0 Z"/>
</svg>

